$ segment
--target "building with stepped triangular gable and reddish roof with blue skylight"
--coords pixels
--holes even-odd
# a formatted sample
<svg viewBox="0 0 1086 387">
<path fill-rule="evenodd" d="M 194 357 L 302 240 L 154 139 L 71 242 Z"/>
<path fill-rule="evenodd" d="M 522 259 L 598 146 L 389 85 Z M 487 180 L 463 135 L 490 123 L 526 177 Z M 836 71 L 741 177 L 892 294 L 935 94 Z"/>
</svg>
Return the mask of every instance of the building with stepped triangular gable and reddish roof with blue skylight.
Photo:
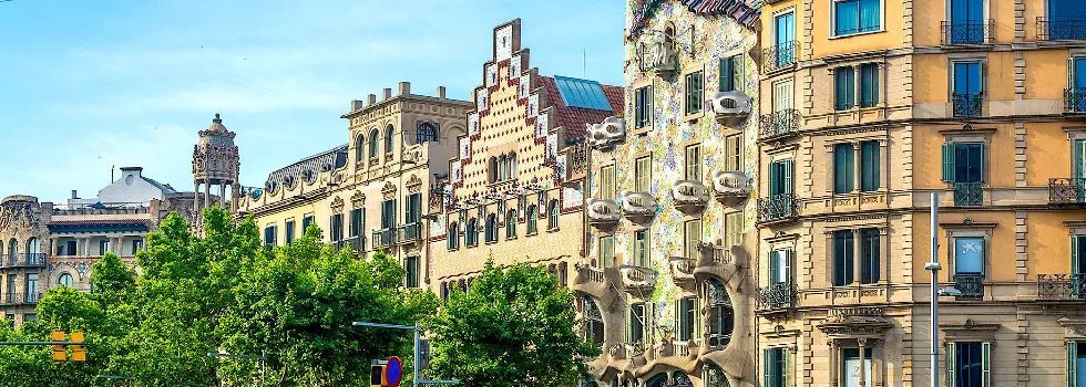
<svg viewBox="0 0 1086 387">
<path fill-rule="evenodd" d="M 623 104 L 618 87 L 540 75 L 521 46 L 520 19 L 493 39 L 443 197 L 431 196 L 431 287 L 442 297 L 467 290 L 488 259 L 545 265 L 571 283 L 586 251 L 586 125 Z"/>
</svg>

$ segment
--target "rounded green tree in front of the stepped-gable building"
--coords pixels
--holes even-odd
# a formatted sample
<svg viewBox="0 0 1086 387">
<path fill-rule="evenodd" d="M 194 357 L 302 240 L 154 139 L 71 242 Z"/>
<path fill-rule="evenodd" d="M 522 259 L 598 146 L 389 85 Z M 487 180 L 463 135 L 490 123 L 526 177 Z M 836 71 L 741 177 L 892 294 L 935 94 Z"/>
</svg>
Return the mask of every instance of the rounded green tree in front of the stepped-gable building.
<svg viewBox="0 0 1086 387">
<path fill-rule="evenodd" d="M 486 262 L 426 324 L 432 376 L 465 386 L 572 386 L 600 349 L 575 332 L 573 294 L 542 266 Z"/>
</svg>

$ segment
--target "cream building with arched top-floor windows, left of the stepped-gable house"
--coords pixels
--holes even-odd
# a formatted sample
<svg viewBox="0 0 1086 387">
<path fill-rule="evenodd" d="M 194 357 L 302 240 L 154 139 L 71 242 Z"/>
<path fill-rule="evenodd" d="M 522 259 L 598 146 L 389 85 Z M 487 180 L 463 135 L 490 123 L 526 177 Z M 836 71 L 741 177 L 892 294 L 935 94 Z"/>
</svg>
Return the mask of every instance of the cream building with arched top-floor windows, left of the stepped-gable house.
<svg viewBox="0 0 1086 387">
<path fill-rule="evenodd" d="M 352 101 L 347 145 L 272 172 L 247 189 L 242 213 L 256 217 L 265 242 L 283 245 L 316 223 L 324 240 L 358 257 L 386 249 L 408 271 L 406 284 L 430 282 L 423 215 L 436 179 L 448 175 L 471 104 L 386 88 L 380 101 Z"/>
</svg>

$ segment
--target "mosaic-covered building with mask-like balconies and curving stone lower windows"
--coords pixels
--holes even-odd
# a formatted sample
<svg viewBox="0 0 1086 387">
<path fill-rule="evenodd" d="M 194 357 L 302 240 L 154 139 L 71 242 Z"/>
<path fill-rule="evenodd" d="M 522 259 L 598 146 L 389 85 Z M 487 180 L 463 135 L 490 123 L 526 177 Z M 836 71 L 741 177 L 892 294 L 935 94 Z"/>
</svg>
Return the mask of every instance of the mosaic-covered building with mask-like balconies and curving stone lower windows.
<svg viewBox="0 0 1086 387">
<path fill-rule="evenodd" d="M 591 129 L 590 384 L 758 385 L 758 8 L 695 3 L 629 1 L 627 104 Z"/>
</svg>

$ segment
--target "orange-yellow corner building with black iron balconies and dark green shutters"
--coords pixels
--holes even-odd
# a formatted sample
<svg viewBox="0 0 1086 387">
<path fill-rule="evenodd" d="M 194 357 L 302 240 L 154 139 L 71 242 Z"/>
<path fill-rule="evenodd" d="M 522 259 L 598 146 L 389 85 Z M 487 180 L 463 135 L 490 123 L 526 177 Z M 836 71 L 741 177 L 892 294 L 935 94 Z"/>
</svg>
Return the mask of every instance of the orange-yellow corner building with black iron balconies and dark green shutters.
<svg viewBox="0 0 1086 387">
<path fill-rule="evenodd" d="M 1086 383 L 1084 25 L 1065 0 L 766 2 L 764 386 L 930 385 L 932 192 L 961 292 L 941 385 Z"/>
</svg>

